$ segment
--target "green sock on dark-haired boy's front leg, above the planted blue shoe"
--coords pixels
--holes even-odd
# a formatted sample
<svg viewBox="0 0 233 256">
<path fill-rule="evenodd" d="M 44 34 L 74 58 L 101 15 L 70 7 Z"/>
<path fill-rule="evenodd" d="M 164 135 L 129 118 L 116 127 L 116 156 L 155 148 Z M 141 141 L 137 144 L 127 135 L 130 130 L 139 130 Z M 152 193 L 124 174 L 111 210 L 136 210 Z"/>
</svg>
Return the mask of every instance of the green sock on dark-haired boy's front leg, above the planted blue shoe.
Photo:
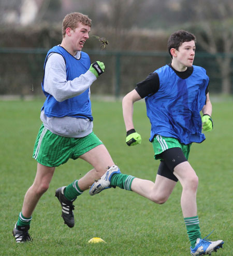
<svg viewBox="0 0 233 256">
<path fill-rule="evenodd" d="M 187 228 L 187 234 L 188 238 L 190 239 L 191 246 L 194 248 L 197 238 L 201 238 L 198 216 L 184 218 L 184 222 Z"/>
</svg>

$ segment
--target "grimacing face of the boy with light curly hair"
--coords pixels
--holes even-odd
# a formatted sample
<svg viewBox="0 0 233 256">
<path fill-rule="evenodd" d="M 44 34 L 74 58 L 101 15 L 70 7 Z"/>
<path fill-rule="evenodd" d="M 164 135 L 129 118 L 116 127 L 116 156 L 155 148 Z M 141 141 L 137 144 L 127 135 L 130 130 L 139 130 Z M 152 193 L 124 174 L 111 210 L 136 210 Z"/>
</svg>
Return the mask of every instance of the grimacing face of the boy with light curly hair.
<svg viewBox="0 0 233 256">
<path fill-rule="evenodd" d="M 89 38 L 90 26 L 79 22 L 75 30 L 71 30 L 71 44 L 74 51 L 81 51 L 84 43 Z"/>
</svg>

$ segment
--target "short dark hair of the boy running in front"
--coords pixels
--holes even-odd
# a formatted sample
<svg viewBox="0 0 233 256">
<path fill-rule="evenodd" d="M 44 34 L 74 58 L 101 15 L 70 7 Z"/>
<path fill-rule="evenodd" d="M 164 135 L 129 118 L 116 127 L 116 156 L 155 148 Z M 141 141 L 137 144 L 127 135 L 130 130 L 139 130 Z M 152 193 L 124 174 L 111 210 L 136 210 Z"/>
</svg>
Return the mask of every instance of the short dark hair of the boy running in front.
<svg viewBox="0 0 233 256">
<path fill-rule="evenodd" d="M 194 41 L 196 42 L 196 37 L 194 34 L 185 31 L 185 30 L 178 30 L 174 33 L 172 33 L 169 38 L 168 38 L 168 42 L 167 42 L 167 49 L 168 49 L 168 53 L 171 56 L 172 59 L 172 55 L 171 55 L 171 48 L 174 48 L 176 50 L 179 50 L 179 47 L 184 43 L 184 42 L 190 42 L 190 41 Z"/>
</svg>

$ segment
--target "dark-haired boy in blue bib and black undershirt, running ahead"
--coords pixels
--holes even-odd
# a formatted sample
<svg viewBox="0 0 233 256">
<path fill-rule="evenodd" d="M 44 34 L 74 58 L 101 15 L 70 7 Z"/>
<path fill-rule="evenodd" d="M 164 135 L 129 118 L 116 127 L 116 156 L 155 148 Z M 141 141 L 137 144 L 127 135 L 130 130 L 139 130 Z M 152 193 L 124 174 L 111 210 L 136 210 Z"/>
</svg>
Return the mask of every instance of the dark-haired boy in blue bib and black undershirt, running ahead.
<svg viewBox="0 0 233 256">
<path fill-rule="evenodd" d="M 196 203 L 198 177 L 187 161 L 191 144 L 205 140 L 201 129 L 210 131 L 213 128 L 209 77 L 205 69 L 193 65 L 195 49 L 193 34 L 183 30 L 174 32 L 168 39 L 171 63 L 149 74 L 122 102 L 126 143 L 133 146 L 141 143 L 141 136 L 133 124 L 133 104 L 145 98 L 154 158 L 161 161 L 155 183 L 115 173 L 120 171 L 115 167 L 113 172 L 108 170 L 96 181 L 89 193 L 95 195 L 105 188 L 119 186 L 164 204 L 179 180 L 183 188 L 181 208 L 191 254 L 202 255 L 216 251 L 224 242 L 201 238 Z"/>
</svg>

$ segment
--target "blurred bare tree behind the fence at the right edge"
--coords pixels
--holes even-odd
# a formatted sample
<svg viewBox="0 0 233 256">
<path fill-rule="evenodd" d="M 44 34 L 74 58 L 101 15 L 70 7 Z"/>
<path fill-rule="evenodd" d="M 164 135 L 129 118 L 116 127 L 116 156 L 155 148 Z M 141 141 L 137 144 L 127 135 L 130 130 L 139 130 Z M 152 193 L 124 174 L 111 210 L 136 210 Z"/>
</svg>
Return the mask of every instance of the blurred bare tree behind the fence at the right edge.
<svg viewBox="0 0 233 256">
<path fill-rule="evenodd" d="M 233 52 L 233 2 L 232 0 L 184 2 L 188 19 L 194 21 L 192 27 L 198 43 L 207 52 L 216 56 L 222 77 L 222 93 L 229 94 Z"/>
</svg>

